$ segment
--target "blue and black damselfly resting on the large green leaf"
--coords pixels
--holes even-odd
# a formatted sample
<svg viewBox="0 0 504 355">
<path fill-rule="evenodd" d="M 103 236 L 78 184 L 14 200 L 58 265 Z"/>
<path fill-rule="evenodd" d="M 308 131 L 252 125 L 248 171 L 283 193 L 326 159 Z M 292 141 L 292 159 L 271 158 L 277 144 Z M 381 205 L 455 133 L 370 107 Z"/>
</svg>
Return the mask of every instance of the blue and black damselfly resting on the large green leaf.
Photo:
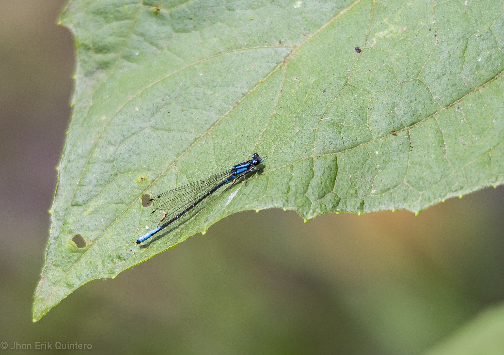
<svg viewBox="0 0 504 355">
<path fill-rule="evenodd" d="M 152 197 L 147 202 L 147 206 L 153 209 L 150 220 L 157 223 L 158 227 L 138 238 L 137 244 L 146 241 L 160 230 L 171 225 L 223 185 L 232 182 L 231 186 L 233 186 L 240 177 L 243 177 L 246 184 L 246 174 L 261 171 L 260 169 L 254 169 L 254 167 L 261 164 L 265 158 L 267 157 L 261 158 L 259 154 L 254 153 L 252 159 L 235 165 L 229 170 Z M 231 186 L 228 188 L 231 188 Z"/>
</svg>

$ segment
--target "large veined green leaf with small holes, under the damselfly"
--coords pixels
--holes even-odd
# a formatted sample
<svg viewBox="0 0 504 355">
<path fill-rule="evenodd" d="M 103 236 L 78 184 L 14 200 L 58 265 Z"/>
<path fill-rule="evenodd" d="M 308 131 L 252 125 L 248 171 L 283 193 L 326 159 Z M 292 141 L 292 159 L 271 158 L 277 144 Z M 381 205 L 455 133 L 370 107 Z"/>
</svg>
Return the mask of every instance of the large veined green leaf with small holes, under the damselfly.
<svg viewBox="0 0 504 355">
<path fill-rule="evenodd" d="M 491 0 L 70 2 L 74 111 L 34 320 L 237 211 L 419 212 L 500 184 L 502 11 Z M 136 245 L 154 227 L 145 193 L 255 152 L 269 157 L 263 174 Z"/>
</svg>

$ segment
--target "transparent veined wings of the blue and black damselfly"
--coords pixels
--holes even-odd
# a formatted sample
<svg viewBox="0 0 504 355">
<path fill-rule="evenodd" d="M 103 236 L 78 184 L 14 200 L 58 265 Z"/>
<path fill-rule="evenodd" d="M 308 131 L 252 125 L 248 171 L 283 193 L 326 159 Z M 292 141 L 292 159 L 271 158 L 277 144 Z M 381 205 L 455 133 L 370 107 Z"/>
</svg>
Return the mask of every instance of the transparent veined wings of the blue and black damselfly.
<svg viewBox="0 0 504 355">
<path fill-rule="evenodd" d="M 171 217 L 193 204 L 208 190 L 230 175 L 231 169 L 152 197 L 147 203 L 147 206 L 153 209 L 150 215 L 151 222 L 161 224 L 164 221 L 169 221 Z"/>
</svg>

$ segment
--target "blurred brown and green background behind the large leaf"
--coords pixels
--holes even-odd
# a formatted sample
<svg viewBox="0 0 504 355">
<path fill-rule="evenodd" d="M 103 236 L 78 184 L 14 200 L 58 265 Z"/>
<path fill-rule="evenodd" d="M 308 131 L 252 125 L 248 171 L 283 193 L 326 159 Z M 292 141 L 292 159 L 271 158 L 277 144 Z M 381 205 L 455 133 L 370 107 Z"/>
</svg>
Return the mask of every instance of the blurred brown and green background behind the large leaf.
<svg viewBox="0 0 504 355">
<path fill-rule="evenodd" d="M 460 345 L 483 341 L 472 329 L 501 336 L 503 187 L 418 217 L 331 214 L 304 224 L 291 211 L 236 214 L 88 283 L 32 323 L 71 114 L 73 38 L 55 25 L 63 3 L 0 0 L 0 342 L 91 343 L 95 353 L 407 355 L 473 353 Z"/>
</svg>

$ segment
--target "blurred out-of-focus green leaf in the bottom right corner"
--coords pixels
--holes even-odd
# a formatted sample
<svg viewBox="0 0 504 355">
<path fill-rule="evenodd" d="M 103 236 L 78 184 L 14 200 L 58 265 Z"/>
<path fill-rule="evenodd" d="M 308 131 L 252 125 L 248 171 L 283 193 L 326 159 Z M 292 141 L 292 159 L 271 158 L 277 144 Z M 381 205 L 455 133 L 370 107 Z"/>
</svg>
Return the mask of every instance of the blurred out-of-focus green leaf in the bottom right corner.
<svg viewBox="0 0 504 355">
<path fill-rule="evenodd" d="M 489 307 L 424 355 L 500 355 L 504 352 L 504 305 Z"/>
</svg>

